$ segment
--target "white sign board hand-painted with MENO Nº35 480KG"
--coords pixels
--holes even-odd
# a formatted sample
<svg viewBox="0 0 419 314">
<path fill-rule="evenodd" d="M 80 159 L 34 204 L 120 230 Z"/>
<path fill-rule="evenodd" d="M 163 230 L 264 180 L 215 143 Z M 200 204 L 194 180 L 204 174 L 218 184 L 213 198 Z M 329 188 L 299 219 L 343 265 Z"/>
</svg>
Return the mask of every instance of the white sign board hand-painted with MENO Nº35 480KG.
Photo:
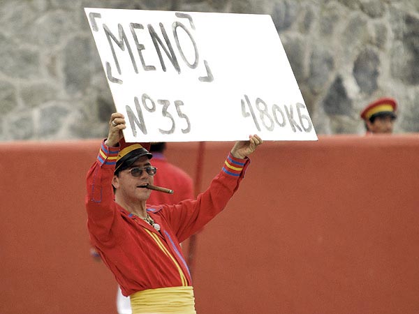
<svg viewBox="0 0 419 314">
<path fill-rule="evenodd" d="M 270 15 L 84 10 L 127 142 L 317 140 Z"/>
</svg>

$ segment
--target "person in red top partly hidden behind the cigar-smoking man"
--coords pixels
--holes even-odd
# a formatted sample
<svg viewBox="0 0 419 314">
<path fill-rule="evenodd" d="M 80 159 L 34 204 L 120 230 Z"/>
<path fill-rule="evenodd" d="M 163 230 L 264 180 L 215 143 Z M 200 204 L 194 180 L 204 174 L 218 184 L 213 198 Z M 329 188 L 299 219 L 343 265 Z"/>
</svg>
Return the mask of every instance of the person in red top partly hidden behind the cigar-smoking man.
<svg viewBox="0 0 419 314">
<path fill-rule="evenodd" d="M 153 154 L 153 165 L 157 168 L 154 176 L 154 185 L 163 186 L 174 190 L 175 193 L 159 193 L 152 191 L 147 204 L 177 204 L 182 200 L 193 199 L 193 180 L 181 168 L 169 163 L 164 156 L 166 142 L 152 142 L 149 152 Z M 118 314 L 131 314 L 131 303 L 129 297 L 124 297 L 121 288 L 117 290 L 117 311 Z"/>
</svg>

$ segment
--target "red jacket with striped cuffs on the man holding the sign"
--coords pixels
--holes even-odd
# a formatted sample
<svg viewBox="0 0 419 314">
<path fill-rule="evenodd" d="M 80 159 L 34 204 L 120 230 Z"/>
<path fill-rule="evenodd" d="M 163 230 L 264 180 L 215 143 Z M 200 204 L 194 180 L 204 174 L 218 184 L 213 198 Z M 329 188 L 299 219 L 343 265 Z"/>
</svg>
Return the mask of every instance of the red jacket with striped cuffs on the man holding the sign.
<svg viewBox="0 0 419 314">
<path fill-rule="evenodd" d="M 200 230 L 226 206 L 249 165 L 249 158 L 229 155 L 210 187 L 196 200 L 149 207 L 161 226 L 157 232 L 114 200 L 111 179 L 118 147 L 102 143 L 87 173 L 87 227 L 91 243 L 114 274 L 122 294 L 159 287 L 191 285 L 179 243 Z"/>
</svg>

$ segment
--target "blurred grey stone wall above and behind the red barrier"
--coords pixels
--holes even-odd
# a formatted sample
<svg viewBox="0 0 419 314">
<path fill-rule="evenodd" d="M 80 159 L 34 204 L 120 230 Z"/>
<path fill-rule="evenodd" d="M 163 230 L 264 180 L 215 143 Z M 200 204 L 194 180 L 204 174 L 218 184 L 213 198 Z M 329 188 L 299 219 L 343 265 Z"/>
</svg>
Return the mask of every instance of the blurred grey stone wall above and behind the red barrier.
<svg viewBox="0 0 419 314">
<path fill-rule="evenodd" d="M 370 100 L 419 132 L 418 0 L 0 0 L 0 140 L 104 137 L 114 111 L 84 7 L 272 15 L 318 134 Z"/>
</svg>

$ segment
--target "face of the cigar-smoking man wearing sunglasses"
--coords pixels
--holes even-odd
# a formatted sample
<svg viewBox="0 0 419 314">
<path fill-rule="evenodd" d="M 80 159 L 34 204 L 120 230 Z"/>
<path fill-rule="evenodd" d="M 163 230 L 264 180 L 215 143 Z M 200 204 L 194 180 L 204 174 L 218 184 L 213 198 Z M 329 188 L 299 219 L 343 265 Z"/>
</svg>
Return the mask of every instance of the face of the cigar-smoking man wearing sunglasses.
<svg viewBox="0 0 419 314">
<path fill-rule="evenodd" d="M 112 179 L 112 185 L 115 187 L 118 197 L 122 197 L 125 202 L 141 202 L 146 201 L 152 190 L 144 188 L 147 184 L 153 184 L 154 178 L 147 174 L 147 171 L 142 170 L 142 173 L 138 177 L 134 177 L 130 170 L 133 167 L 147 167 L 151 165 L 149 158 L 143 156 L 128 167 L 126 170 L 119 172 L 118 176 L 114 176 Z"/>
</svg>

